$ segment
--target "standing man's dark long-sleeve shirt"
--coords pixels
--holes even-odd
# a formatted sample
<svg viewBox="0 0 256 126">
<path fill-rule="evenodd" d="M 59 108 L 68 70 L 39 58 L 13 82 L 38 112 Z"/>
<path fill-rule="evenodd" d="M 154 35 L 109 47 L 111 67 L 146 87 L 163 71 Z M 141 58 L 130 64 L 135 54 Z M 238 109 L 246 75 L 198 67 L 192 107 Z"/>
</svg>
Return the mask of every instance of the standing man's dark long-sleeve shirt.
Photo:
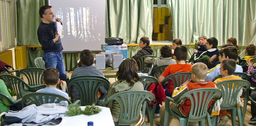
<svg viewBox="0 0 256 126">
<path fill-rule="evenodd" d="M 44 52 L 59 52 L 63 50 L 60 38 L 55 43 L 52 40 L 55 38 L 54 22 L 46 24 L 41 21 L 37 30 L 37 36 Z"/>
</svg>

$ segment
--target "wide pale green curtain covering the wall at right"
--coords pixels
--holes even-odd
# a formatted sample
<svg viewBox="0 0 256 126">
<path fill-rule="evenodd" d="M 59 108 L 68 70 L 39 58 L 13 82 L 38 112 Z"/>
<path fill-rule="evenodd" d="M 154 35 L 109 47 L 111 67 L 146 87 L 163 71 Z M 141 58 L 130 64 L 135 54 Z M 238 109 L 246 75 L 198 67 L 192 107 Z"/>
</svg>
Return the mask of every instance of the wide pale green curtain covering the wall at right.
<svg viewBox="0 0 256 126">
<path fill-rule="evenodd" d="M 173 38 L 184 44 L 195 43 L 199 36 L 216 37 L 218 45 L 235 37 L 239 46 L 255 44 L 255 0 L 168 0 Z"/>
</svg>

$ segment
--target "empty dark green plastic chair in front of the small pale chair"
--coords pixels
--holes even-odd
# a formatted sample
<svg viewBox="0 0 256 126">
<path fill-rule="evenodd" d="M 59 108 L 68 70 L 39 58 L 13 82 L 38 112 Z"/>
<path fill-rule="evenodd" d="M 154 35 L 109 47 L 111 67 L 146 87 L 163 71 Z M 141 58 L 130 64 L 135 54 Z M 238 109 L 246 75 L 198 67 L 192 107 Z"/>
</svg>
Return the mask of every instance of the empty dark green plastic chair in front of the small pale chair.
<svg viewBox="0 0 256 126">
<path fill-rule="evenodd" d="M 28 91 L 36 92 L 39 89 L 45 88 L 43 84 L 43 68 L 25 68 L 20 70 L 16 76 L 21 77 L 22 79 L 32 88 L 29 88 Z M 37 86 L 40 85 L 40 86 Z M 36 88 L 33 88 L 36 86 Z"/>
</svg>

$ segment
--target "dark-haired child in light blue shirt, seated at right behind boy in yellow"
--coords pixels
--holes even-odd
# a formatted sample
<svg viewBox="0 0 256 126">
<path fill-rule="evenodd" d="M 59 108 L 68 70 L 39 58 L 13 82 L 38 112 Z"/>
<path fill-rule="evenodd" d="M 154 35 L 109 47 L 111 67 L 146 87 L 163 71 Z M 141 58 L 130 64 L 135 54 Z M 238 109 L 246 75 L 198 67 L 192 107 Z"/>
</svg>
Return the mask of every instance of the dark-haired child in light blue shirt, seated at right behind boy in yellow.
<svg viewBox="0 0 256 126">
<path fill-rule="evenodd" d="M 237 52 L 236 47 L 228 46 L 228 47 L 223 48 L 222 55 L 220 55 L 219 58 L 222 61 L 224 59 L 234 59 L 236 61 L 237 57 L 238 57 L 238 52 Z M 220 75 L 220 67 L 221 66 L 219 65 L 219 66 L 215 67 L 215 69 L 210 70 L 210 72 L 207 74 L 207 77 L 206 77 L 205 80 L 206 81 L 213 81 L 216 76 L 219 76 Z M 240 65 L 236 64 L 235 72 L 243 72 L 243 68 Z"/>
</svg>

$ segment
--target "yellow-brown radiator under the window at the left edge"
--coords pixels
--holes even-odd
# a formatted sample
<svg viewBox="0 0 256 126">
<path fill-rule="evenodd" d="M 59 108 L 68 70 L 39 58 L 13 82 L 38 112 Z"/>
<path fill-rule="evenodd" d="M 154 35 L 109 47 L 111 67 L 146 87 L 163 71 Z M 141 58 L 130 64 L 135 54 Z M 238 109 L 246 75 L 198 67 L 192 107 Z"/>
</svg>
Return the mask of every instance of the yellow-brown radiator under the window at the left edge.
<svg viewBox="0 0 256 126">
<path fill-rule="evenodd" d="M 13 61 L 12 61 L 12 51 L 11 50 L 5 50 L 0 52 L 0 60 L 7 63 L 8 65 L 13 67 Z"/>
</svg>

